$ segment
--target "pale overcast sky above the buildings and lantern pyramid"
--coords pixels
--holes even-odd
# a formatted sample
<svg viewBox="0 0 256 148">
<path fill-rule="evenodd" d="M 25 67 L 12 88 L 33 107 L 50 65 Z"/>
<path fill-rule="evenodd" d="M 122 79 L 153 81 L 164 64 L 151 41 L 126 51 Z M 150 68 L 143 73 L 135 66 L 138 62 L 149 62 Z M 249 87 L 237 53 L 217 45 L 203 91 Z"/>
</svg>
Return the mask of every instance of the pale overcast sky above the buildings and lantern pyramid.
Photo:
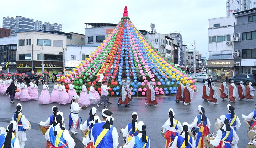
<svg viewBox="0 0 256 148">
<path fill-rule="evenodd" d="M 2 0 L 0 27 L 6 16 L 23 16 L 62 24 L 63 32 L 85 34 L 84 23 L 118 23 L 124 6 L 139 30 L 180 32 L 183 44 L 196 40 L 196 50 L 208 53 L 208 19 L 226 16 L 226 0 Z M 188 46 L 192 49 L 192 46 Z"/>
</svg>

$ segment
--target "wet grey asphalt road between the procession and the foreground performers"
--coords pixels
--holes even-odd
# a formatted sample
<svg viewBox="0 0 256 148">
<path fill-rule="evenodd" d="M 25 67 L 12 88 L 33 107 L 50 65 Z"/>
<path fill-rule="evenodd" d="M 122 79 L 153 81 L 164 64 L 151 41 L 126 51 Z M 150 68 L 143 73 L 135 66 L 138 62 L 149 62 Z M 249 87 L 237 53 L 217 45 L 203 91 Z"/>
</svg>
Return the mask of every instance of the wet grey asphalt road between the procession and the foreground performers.
<svg viewBox="0 0 256 148">
<path fill-rule="evenodd" d="M 218 105 L 214 105 L 207 102 L 204 102 L 202 99 L 202 87 L 203 83 L 197 83 L 198 92 L 194 94 L 194 98 L 192 100 L 192 104 L 188 106 L 182 105 L 182 103 L 175 103 L 176 96 L 169 97 L 158 97 L 159 106 L 145 106 L 146 98 L 134 98 L 132 104 L 129 107 L 120 106 L 118 108 L 116 102 L 118 98 L 110 98 L 110 101 L 113 103 L 110 105 L 108 109 L 113 112 L 114 127 L 117 128 L 119 132 L 119 128 L 124 128 L 129 122 L 131 122 L 131 114 L 132 112 L 138 113 L 138 121 L 143 121 L 146 125 L 146 132 L 151 141 L 152 148 L 164 148 L 165 147 L 165 139 L 161 136 L 160 131 L 162 125 L 168 119 L 168 109 L 173 108 L 175 112 L 175 119 L 179 120 L 181 123 L 186 121 L 189 124 L 193 121 L 194 117 L 197 114 L 197 106 L 201 104 L 206 109 L 206 115 L 211 122 L 210 132 L 214 132 L 214 119 L 215 117 L 219 117 L 220 115 L 228 113 L 228 109 L 226 105 L 229 103 L 228 101 L 222 101 L 222 99 L 218 99 Z M 219 88 L 221 83 L 216 83 L 216 87 Z M 228 84 L 229 86 L 229 84 Z M 50 92 L 53 89 L 53 85 L 50 84 Z M 42 86 L 39 87 L 39 94 L 42 90 Z M 218 91 L 218 96 L 220 97 L 220 91 Z M 238 96 L 238 95 L 237 95 Z M 7 127 L 10 122 L 12 115 L 16 111 L 16 104 L 22 104 L 22 113 L 26 116 L 26 118 L 31 122 L 32 129 L 27 130 L 27 141 L 25 142 L 26 148 L 44 148 L 46 146 L 46 141 L 41 131 L 39 131 L 39 121 L 45 121 L 52 114 L 52 106 L 56 105 L 59 111 L 64 113 L 65 124 L 68 126 L 68 115 L 70 112 L 70 104 L 65 106 L 59 105 L 57 103 L 52 103 L 48 105 L 39 105 L 38 101 L 28 101 L 28 102 L 20 102 L 15 101 L 14 104 L 9 102 L 9 97 L 0 95 L 0 126 Z M 241 115 L 248 115 L 255 109 L 255 102 L 246 102 L 244 101 L 236 101 L 236 103 L 231 103 L 232 106 L 235 107 L 235 113 L 238 115 L 241 120 Z M 96 107 L 96 105 L 90 105 L 86 110 L 82 110 L 79 114 L 83 119 L 83 122 L 89 118 L 89 110 L 91 107 Z M 101 110 L 103 106 L 97 108 L 97 114 L 101 116 Z M 246 147 L 246 144 L 249 142 L 249 138 L 247 138 L 247 128 L 244 122 L 241 122 L 242 125 L 240 129 L 238 129 L 239 136 L 239 148 Z M 82 135 L 80 131 L 78 135 L 73 136 L 76 142 L 76 148 L 82 148 Z M 119 133 L 119 146 L 123 144 L 122 135 Z M 118 148 L 119 148 L 118 146 Z"/>
</svg>

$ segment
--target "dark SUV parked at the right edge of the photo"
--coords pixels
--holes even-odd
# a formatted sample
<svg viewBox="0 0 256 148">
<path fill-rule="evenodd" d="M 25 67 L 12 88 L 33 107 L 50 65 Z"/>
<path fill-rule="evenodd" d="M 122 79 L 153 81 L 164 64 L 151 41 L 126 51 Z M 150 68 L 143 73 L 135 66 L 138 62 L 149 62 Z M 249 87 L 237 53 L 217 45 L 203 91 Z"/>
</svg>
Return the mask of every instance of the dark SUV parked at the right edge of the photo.
<svg viewBox="0 0 256 148">
<path fill-rule="evenodd" d="M 235 83 L 240 83 L 240 81 L 245 82 L 244 84 L 248 85 L 250 82 L 252 82 L 253 85 L 256 84 L 256 78 L 254 74 L 238 74 L 233 77 L 230 77 L 228 79 L 229 84 L 231 84 L 231 81 L 234 80 Z"/>
</svg>

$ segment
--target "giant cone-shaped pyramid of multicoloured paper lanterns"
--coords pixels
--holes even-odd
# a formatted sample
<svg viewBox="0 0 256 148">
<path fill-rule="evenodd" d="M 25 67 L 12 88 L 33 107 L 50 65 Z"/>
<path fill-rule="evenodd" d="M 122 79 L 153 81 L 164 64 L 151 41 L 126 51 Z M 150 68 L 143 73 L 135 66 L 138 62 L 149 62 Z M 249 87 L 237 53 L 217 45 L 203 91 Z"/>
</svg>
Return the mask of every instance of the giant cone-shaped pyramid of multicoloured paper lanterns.
<svg viewBox="0 0 256 148">
<path fill-rule="evenodd" d="M 162 57 L 135 28 L 128 16 L 127 6 L 116 28 L 92 55 L 58 78 L 58 81 L 65 83 L 71 80 L 75 80 L 77 92 L 81 92 L 82 81 L 89 85 L 101 80 L 110 81 L 111 95 L 119 95 L 122 80 L 130 83 L 133 95 L 145 95 L 149 81 L 157 86 L 155 89 L 159 95 L 176 93 L 181 81 L 190 83 L 190 87 L 196 89 L 196 79 Z M 100 84 L 94 87 L 100 91 Z"/>
</svg>

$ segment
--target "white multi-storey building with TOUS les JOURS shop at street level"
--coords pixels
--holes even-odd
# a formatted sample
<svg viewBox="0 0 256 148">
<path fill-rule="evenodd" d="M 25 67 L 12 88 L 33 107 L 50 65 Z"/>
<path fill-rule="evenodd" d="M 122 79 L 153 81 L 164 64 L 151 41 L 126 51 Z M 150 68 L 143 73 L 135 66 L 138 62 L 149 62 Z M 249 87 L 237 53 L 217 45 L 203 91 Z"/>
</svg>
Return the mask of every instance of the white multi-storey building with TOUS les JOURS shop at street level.
<svg viewBox="0 0 256 148">
<path fill-rule="evenodd" d="M 223 79 L 234 75 L 233 40 L 239 39 L 234 35 L 235 16 L 209 19 L 208 28 L 208 73 Z M 209 63 L 229 64 L 209 64 Z"/>
</svg>

